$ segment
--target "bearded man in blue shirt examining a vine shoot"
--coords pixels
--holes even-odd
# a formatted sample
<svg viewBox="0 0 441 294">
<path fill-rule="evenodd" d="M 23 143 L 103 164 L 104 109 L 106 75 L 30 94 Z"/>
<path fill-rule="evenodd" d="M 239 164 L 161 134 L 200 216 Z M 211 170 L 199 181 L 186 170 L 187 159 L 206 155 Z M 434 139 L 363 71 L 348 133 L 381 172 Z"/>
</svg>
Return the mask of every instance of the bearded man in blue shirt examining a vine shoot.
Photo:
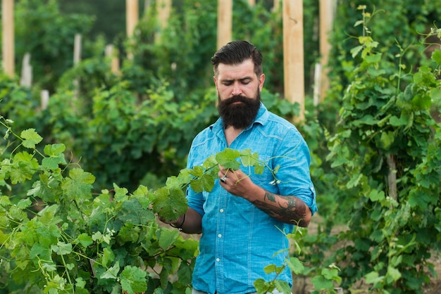
<svg viewBox="0 0 441 294">
<path fill-rule="evenodd" d="M 317 210 L 309 172 L 310 153 L 302 135 L 261 103 L 265 82 L 262 55 L 247 41 L 232 41 L 211 58 L 218 92 L 219 119 L 193 140 L 187 168 L 232 148 L 259 154 L 270 169 L 263 174 L 220 167 L 211 192 L 187 189 L 189 208 L 173 227 L 201 234 L 192 277 L 193 294 L 256 293 L 254 281 L 278 279 L 292 286 L 289 267 L 266 274 L 269 264 L 282 267 L 294 226 L 308 226 Z M 273 293 L 279 293 L 278 290 Z"/>
</svg>

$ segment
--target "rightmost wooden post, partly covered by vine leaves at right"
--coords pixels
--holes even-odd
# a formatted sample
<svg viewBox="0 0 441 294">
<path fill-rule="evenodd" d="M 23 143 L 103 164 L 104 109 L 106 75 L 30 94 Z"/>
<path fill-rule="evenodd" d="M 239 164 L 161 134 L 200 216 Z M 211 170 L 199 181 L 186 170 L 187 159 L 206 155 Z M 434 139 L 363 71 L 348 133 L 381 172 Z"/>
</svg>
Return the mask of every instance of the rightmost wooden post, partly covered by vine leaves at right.
<svg viewBox="0 0 441 294">
<path fill-rule="evenodd" d="M 328 61 L 329 61 L 329 52 L 331 49 L 329 43 L 329 32 L 332 31 L 333 28 L 333 20 L 335 14 L 335 1 L 334 0 L 320 0 L 319 3 L 319 18 L 320 18 L 320 55 L 321 55 L 321 91 L 320 91 L 320 101 L 323 101 L 325 98 L 326 91 L 329 88 L 329 79 L 328 79 Z"/>
</svg>

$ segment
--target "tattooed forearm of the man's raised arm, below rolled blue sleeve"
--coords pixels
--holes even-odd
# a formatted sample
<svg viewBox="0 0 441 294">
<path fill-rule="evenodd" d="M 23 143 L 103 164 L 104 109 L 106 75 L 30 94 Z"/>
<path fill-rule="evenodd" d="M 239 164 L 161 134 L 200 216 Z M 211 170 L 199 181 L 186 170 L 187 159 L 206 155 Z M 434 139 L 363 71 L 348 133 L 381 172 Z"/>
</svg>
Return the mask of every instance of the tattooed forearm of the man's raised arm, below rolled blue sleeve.
<svg viewBox="0 0 441 294">
<path fill-rule="evenodd" d="M 279 219 L 282 222 L 306 226 L 306 205 L 297 197 L 284 196 L 278 197 L 274 193 L 266 191 L 263 201 L 255 201 L 254 205 L 263 212 Z"/>
</svg>

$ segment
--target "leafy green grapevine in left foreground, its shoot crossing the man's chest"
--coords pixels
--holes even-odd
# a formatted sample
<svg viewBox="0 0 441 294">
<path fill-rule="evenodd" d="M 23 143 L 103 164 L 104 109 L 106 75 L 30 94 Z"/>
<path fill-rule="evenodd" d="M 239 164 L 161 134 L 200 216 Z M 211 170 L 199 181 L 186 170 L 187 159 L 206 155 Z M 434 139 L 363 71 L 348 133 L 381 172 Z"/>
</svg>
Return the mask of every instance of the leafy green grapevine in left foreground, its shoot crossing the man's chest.
<svg viewBox="0 0 441 294">
<path fill-rule="evenodd" d="M 44 293 L 152 293 L 172 287 L 170 279 L 177 274 L 172 288 L 188 291 L 198 243 L 159 226 L 156 215 L 176 219 L 185 213 L 185 189 L 211 191 L 219 165 L 230 170 L 243 165 L 257 174 L 268 167 L 257 153 L 226 148 L 203 165 L 168 177 L 156 191 L 139 186 L 128 193 L 113 184 L 112 190 L 94 194 L 94 176 L 66 162 L 62 143 L 39 151 L 43 138 L 35 129 L 18 135 L 12 123 L 0 117 L 4 139 L 16 139 L 6 145 L 15 147 L 1 161 L 1 185 L 10 191 L 26 183 L 31 188 L 22 199 L 0 196 L 1 283 L 12 278 L 3 287 Z"/>
</svg>

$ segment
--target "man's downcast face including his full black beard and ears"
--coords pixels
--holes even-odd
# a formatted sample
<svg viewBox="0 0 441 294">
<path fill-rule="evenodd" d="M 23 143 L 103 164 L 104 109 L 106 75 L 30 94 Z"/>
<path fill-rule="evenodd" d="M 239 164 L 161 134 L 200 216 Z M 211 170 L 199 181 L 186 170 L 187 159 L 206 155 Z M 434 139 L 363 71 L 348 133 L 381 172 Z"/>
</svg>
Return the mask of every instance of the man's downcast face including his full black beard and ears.
<svg viewBox="0 0 441 294">
<path fill-rule="evenodd" d="M 259 111 L 264 81 L 265 75 L 256 77 L 251 59 L 239 65 L 218 65 L 214 82 L 218 91 L 218 110 L 225 127 L 244 129 L 253 122 Z"/>
</svg>

